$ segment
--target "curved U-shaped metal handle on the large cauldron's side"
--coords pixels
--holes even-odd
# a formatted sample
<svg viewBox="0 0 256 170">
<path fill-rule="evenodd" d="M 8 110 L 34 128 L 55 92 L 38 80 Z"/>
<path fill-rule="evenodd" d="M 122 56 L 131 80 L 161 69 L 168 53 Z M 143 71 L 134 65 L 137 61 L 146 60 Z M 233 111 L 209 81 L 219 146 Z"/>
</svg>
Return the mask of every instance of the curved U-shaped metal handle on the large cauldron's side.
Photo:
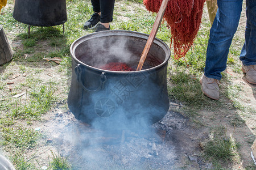
<svg viewBox="0 0 256 170">
<path fill-rule="evenodd" d="M 100 75 L 100 86 L 98 86 L 95 90 L 90 90 L 89 88 L 84 86 L 84 83 L 82 83 L 82 79 L 81 79 L 81 75 L 82 75 L 82 66 L 80 64 L 77 64 L 75 67 L 75 73 L 77 75 L 77 81 L 81 83 L 82 88 L 84 88 L 84 90 L 86 91 L 90 91 L 90 92 L 96 92 L 101 90 L 102 88 L 104 88 L 104 84 L 107 80 L 106 75 L 104 72 L 101 73 Z"/>
</svg>

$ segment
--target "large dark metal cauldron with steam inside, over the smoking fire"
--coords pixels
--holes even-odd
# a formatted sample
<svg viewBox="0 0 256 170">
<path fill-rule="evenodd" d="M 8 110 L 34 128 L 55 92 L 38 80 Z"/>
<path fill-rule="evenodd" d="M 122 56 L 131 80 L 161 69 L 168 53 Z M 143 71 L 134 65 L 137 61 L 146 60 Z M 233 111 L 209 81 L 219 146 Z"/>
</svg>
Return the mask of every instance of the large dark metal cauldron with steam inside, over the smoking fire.
<svg viewBox="0 0 256 170">
<path fill-rule="evenodd" d="M 155 39 L 141 71 L 98 69 L 125 62 L 136 70 L 148 35 L 102 31 L 71 45 L 72 81 L 68 107 L 83 122 L 109 125 L 154 124 L 167 113 L 167 65 L 170 49 Z"/>
</svg>

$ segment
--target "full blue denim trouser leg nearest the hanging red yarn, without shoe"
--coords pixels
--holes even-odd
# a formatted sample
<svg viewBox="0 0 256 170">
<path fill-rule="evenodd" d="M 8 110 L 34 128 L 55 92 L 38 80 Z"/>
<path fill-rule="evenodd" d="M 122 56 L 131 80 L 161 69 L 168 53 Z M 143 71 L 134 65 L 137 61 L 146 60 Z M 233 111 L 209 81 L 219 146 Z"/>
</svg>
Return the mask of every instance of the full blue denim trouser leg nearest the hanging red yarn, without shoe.
<svg viewBox="0 0 256 170">
<path fill-rule="evenodd" d="M 218 10 L 207 47 L 204 74 L 208 78 L 221 79 L 226 69 L 229 47 L 237 31 L 243 0 L 217 0 Z"/>
</svg>

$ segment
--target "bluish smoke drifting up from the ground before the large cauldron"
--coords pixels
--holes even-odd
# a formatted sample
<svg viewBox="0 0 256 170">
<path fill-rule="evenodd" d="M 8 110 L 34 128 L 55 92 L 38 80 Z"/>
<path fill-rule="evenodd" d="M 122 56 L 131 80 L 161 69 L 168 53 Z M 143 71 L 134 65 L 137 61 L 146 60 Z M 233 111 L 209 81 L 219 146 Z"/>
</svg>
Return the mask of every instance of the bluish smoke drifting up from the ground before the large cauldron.
<svg viewBox="0 0 256 170">
<path fill-rule="evenodd" d="M 163 159 L 172 164 L 172 154 L 166 157 L 170 147 L 151 126 L 168 111 L 163 87 L 154 82 L 158 77 L 155 71 L 118 79 L 109 75 L 103 90 L 83 94 L 80 118 L 89 126 L 73 125 L 65 136 L 77 169 L 147 169 L 161 167 L 155 163 Z"/>
</svg>

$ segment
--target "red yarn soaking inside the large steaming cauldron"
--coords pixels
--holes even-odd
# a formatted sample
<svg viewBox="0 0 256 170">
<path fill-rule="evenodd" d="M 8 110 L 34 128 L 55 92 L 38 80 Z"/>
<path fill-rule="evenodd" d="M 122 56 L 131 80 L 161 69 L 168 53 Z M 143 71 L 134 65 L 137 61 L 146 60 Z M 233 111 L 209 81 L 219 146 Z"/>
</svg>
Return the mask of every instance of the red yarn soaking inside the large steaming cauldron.
<svg viewBox="0 0 256 170">
<path fill-rule="evenodd" d="M 135 71 L 134 69 L 126 65 L 126 63 L 121 63 L 121 62 L 110 62 L 100 66 L 100 69 L 110 70 L 110 71 Z"/>
</svg>

